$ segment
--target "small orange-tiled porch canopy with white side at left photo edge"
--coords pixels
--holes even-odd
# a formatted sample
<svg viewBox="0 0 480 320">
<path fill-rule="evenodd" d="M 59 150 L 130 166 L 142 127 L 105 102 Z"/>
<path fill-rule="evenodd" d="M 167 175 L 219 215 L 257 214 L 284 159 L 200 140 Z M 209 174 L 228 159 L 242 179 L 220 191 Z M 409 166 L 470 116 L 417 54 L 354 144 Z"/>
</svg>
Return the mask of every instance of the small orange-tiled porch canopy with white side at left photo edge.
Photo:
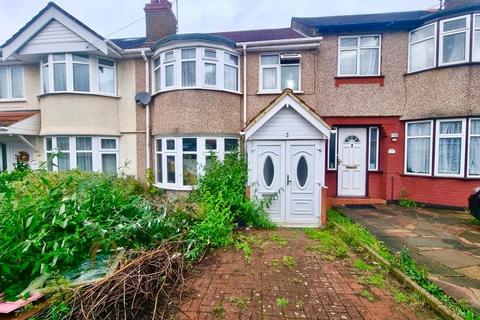
<svg viewBox="0 0 480 320">
<path fill-rule="evenodd" d="M 40 111 L 0 112 L 0 135 L 32 135 L 40 133 Z"/>
</svg>

